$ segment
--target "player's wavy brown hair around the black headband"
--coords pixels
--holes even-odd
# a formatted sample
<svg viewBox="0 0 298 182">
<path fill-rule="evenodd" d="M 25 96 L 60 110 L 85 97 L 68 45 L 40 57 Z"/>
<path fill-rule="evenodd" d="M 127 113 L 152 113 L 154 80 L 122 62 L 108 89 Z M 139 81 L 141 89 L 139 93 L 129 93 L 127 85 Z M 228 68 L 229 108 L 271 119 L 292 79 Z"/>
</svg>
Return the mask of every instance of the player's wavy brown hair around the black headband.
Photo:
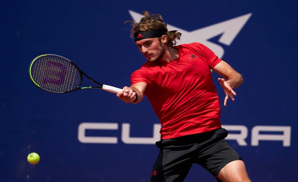
<svg viewBox="0 0 298 182">
<path fill-rule="evenodd" d="M 164 23 L 162 20 L 162 16 L 160 14 L 149 14 L 148 11 L 144 11 L 141 13 L 144 17 L 141 19 L 139 23 L 136 23 L 133 20 L 125 21 L 125 23 L 131 23 L 131 37 L 134 38 L 134 34 L 138 31 L 147 31 L 149 29 L 158 29 L 166 32 L 167 42 L 166 44 L 173 47 L 176 45 L 176 39 L 180 40 L 181 33 L 168 31 L 167 23 Z"/>
</svg>

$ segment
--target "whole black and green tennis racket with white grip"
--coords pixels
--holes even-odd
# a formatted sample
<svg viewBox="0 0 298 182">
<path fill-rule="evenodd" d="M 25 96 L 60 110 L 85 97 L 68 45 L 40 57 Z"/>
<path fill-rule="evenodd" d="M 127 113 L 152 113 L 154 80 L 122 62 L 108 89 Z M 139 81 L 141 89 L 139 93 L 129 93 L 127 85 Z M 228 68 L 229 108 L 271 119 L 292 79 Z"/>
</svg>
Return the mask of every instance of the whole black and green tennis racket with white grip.
<svg viewBox="0 0 298 182">
<path fill-rule="evenodd" d="M 99 86 L 80 87 L 83 80 L 82 75 L 85 75 Z M 29 76 L 35 86 L 52 93 L 68 93 L 86 88 L 100 88 L 117 94 L 122 90 L 91 79 L 69 59 L 54 54 L 35 57 L 29 65 Z"/>
</svg>

